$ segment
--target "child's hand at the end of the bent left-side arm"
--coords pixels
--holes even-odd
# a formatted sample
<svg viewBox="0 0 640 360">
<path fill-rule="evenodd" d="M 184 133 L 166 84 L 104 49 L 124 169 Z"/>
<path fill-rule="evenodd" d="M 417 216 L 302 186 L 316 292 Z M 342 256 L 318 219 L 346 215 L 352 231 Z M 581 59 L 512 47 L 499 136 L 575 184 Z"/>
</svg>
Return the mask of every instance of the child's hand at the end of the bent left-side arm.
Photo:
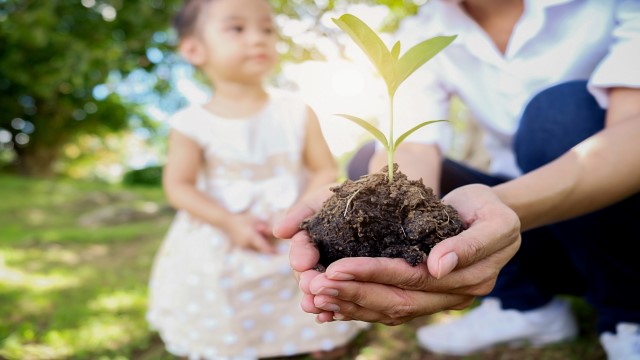
<svg viewBox="0 0 640 360">
<path fill-rule="evenodd" d="M 270 227 L 251 214 L 233 215 L 225 227 L 232 243 L 258 252 L 275 254 Z"/>
</svg>

